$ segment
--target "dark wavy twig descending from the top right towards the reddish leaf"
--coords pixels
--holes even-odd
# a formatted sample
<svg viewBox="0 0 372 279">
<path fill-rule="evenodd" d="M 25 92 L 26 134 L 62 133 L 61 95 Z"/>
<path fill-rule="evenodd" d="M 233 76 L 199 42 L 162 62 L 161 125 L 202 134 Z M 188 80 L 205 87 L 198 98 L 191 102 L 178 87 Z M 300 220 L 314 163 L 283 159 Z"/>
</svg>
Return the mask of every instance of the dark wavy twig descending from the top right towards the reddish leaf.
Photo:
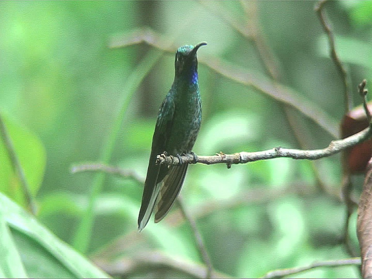
<svg viewBox="0 0 372 279">
<path fill-rule="evenodd" d="M 318 14 L 318 17 L 319 17 L 320 22 L 323 26 L 324 32 L 327 33 L 328 41 L 329 41 L 329 44 L 330 44 L 330 50 L 331 50 L 331 58 L 334 61 L 334 63 L 336 64 L 337 70 L 339 71 L 341 79 L 342 79 L 343 84 L 344 84 L 345 113 L 347 113 L 352 108 L 350 92 L 349 92 L 349 83 L 347 81 L 347 72 L 346 72 L 345 68 L 343 67 L 343 65 L 340 61 L 340 58 L 338 57 L 338 55 L 336 53 L 336 47 L 335 47 L 335 43 L 334 43 L 334 35 L 333 35 L 332 30 L 331 30 L 331 26 L 329 25 L 329 23 L 325 19 L 325 15 L 324 15 L 324 11 L 323 11 L 323 7 L 324 7 L 325 2 L 326 2 L 326 0 L 319 1 L 317 6 L 315 7 L 315 11 Z"/>
</svg>

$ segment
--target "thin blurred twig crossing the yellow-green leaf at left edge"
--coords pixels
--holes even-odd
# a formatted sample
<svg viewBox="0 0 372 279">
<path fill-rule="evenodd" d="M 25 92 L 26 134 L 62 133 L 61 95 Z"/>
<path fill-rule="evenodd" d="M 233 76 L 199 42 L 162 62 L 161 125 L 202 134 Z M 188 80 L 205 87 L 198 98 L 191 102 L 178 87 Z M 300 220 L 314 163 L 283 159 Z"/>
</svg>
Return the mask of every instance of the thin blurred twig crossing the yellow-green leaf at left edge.
<svg viewBox="0 0 372 279">
<path fill-rule="evenodd" d="M 25 195 L 26 203 L 31 210 L 32 214 L 36 214 L 36 205 L 33 201 L 32 194 L 30 191 L 30 186 L 27 182 L 25 171 L 23 171 L 23 168 L 21 166 L 21 163 L 17 157 L 16 151 L 14 149 L 14 145 L 12 142 L 12 139 L 10 138 L 10 135 L 6 129 L 6 126 L 3 122 L 3 119 L 0 115 L 0 135 L 3 138 L 5 149 L 8 153 L 10 162 L 12 163 L 13 170 L 17 173 L 20 184 L 23 189 L 23 193 Z"/>
</svg>

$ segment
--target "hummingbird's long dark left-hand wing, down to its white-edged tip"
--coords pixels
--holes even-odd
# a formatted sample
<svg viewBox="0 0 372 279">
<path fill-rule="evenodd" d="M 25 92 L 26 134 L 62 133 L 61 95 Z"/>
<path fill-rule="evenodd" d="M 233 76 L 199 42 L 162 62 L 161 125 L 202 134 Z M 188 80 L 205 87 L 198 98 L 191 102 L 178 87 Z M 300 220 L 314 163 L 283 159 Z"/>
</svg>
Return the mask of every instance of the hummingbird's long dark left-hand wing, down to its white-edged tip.
<svg viewBox="0 0 372 279">
<path fill-rule="evenodd" d="M 168 172 L 168 166 L 156 165 L 156 156 L 163 153 L 166 148 L 166 142 L 170 135 L 172 120 L 174 115 L 174 102 L 171 94 L 167 94 L 160 107 L 158 119 L 156 121 L 153 144 L 151 146 L 151 155 L 147 168 L 147 176 L 142 195 L 140 214 L 138 215 L 138 230 L 142 230 L 150 219 L 153 212 L 155 201 L 160 188 L 163 184 L 161 181 Z M 161 170 L 161 171 L 160 171 Z M 162 177 L 158 177 L 161 172 Z M 161 179 L 159 179 L 161 178 Z M 160 182 L 159 182 L 160 181 Z"/>
</svg>

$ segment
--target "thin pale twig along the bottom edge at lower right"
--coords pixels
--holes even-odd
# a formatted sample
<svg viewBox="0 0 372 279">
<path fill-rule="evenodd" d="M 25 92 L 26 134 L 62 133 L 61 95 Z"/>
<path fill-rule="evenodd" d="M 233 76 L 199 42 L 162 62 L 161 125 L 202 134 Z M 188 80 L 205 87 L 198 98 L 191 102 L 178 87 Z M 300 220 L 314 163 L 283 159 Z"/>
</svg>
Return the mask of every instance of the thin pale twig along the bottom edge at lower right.
<svg viewBox="0 0 372 279">
<path fill-rule="evenodd" d="M 262 278 L 281 278 L 295 273 L 303 272 L 309 269 L 317 267 L 335 267 L 335 266 L 346 266 L 346 265 L 360 265 L 360 258 L 342 259 L 342 260 L 328 260 L 321 262 L 314 262 L 307 266 L 294 267 L 288 269 L 278 269 L 266 273 Z"/>
</svg>

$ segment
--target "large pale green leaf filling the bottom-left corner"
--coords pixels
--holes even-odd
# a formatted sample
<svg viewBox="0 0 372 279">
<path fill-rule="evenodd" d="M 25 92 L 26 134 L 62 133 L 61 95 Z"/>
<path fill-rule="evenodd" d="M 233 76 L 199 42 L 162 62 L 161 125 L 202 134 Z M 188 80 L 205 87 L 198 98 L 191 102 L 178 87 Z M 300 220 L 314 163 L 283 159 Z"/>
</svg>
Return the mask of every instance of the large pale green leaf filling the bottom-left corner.
<svg viewBox="0 0 372 279">
<path fill-rule="evenodd" d="M 28 277 L 26 273 L 38 278 L 109 277 L 1 193 L 0 230 L 1 249 L 7 248 L 7 253 L 1 254 L 12 259 L 0 261 L 2 277 Z"/>
</svg>

